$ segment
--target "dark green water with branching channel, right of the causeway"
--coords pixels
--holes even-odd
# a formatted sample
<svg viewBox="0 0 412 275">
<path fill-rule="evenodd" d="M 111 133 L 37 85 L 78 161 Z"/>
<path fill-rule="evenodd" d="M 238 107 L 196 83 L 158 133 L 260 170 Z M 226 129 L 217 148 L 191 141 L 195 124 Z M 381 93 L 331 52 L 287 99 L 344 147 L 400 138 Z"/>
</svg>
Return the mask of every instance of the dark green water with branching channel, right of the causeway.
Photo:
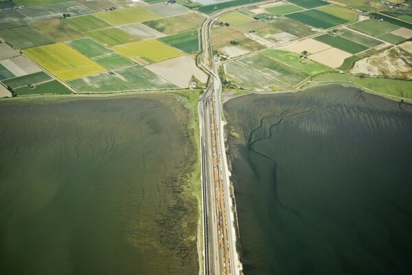
<svg viewBox="0 0 412 275">
<path fill-rule="evenodd" d="M 412 274 L 412 107 L 317 87 L 225 104 L 244 274 Z"/>
</svg>

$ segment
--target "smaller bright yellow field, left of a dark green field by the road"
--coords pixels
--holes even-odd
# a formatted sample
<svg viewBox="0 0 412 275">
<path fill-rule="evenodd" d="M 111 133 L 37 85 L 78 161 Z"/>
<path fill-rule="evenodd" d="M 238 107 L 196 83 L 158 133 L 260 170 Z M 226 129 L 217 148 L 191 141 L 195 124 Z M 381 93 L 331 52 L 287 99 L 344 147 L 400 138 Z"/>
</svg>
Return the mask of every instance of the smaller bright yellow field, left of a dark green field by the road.
<svg viewBox="0 0 412 275">
<path fill-rule="evenodd" d="M 141 58 L 148 63 L 156 63 L 166 59 L 183 56 L 183 52 L 157 40 L 128 43 L 113 47 L 113 49 L 128 58 Z"/>
</svg>

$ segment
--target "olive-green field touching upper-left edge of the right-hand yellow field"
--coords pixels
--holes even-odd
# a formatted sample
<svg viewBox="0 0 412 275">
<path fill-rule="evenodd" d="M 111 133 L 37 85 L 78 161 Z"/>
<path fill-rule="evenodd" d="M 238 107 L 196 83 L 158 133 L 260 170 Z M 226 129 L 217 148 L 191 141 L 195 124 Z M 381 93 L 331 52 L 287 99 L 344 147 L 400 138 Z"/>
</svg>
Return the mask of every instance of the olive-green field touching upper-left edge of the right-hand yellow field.
<svg viewBox="0 0 412 275">
<path fill-rule="evenodd" d="M 87 36 L 107 46 L 115 46 L 137 41 L 137 37 L 119 28 L 95 30 L 87 32 Z"/>
</svg>

